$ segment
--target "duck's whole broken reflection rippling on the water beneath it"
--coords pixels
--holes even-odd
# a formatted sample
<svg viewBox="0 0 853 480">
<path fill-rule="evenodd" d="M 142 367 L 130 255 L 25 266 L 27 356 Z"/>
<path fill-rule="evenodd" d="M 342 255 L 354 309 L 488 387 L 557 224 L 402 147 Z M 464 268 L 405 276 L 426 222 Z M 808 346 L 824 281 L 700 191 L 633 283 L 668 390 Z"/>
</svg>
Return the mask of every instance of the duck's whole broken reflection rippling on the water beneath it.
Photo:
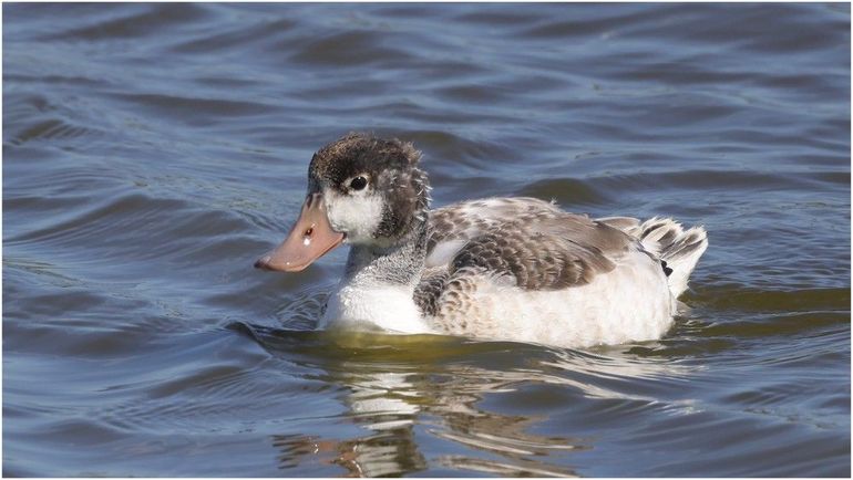
<svg viewBox="0 0 853 480">
<path fill-rule="evenodd" d="M 319 338 L 318 334 L 310 335 Z M 294 347 L 301 353 L 316 352 L 319 346 L 326 355 L 311 354 L 307 363 L 323 368 L 323 380 L 346 386 L 340 399 L 348 413 L 340 421 L 351 421 L 363 429 L 363 435 L 347 439 L 275 436 L 273 441 L 280 450 L 282 469 L 326 463 L 346 469 L 345 474 L 351 477 L 383 477 L 425 470 L 431 463 L 433 471 L 436 465 L 448 468 L 449 476 L 459 470 L 475 470 L 499 476 L 568 477 L 577 474 L 571 467 L 571 456 L 593 448 L 592 439 L 566 435 L 569 432 L 533 434 L 534 427 L 546 422 L 543 415 L 507 415 L 490 411 L 482 405 L 487 395 L 513 393 L 537 383 L 577 390 L 578 397 L 602 395 L 600 388 L 585 392 L 583 384 L 572 379 L 518 368 L 518 364 L 528 363 L 556 369 L 555 363 L 561 359 L 554 351 L 521 344 L 411 337 L 382 336 L 382 343 L 374 340 L 373 346 L 361 347 L 359 340 L 348 337 L 345 342 L 357 345 L 342 345 L 342 337 L 330 340 L 328 335 L 318 341 L 322 345 L 306 345 L 302 340 L 287 342 L 280 332 L 255 332 L 254 336 L 273 353 L 287 349 L 292 354 Z M 503 365 L 505 369 L 483 368 L 481 365 L 489 357 L 518 362 L 512 367 Z M 436 447 L 442 441 L 450 441 L 451 447 Z M 444 450 L 446 455 L 425 458 L 419 448 L 423 442 L 433 442 L 430 451 Z"/>
</svg>

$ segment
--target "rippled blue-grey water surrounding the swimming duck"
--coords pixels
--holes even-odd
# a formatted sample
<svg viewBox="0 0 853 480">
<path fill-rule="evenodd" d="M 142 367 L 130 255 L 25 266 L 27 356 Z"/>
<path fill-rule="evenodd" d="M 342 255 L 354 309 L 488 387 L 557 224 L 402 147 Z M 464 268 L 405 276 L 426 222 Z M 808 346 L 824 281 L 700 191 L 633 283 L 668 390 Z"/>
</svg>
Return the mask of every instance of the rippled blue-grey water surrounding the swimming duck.
<svg viewBox="0 0 853 480">
<path fill-rule="evenodd" d="M 849 4 L 3 4 L 7 476 L 850 474 Z M 312 152 L 703 223 L 592 351 L 307 332 Z M 296 332 L 295 332 L 296 331 Z"/>
</svg>

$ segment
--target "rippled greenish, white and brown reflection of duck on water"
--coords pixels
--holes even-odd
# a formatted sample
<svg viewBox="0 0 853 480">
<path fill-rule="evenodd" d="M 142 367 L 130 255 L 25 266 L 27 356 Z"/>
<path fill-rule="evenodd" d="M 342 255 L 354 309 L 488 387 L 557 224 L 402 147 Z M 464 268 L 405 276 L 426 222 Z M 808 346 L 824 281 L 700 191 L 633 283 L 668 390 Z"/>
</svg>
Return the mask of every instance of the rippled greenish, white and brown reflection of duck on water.
<svg viewBox="0 0 853 480">
<path fill-rule="evenodd" d="M 541 403 L 569 408 L 605 397 L 640 407 L 650 400 L 612 387 L 625 378 L 680 375 L 677 366 L 659 362 L 626 363 L 533 345 L 240 328 L 274 355 L 320 367 L 318 379 L 346 386 L 339 399 L 347 413 L 340 421 L 362 431 L 343 439 L 274 436 L 280 468 L 320 462 L 352 477 L 400 476 L 425 470 L 429 462 L 501 476 L 576 476 L 572 456 L 594 448 L 593 439 L 535 432 L 548 421 L 539 414 L 548 410 Z M 499 407 L 483 401 L 520 393 Z M 436 441 L 466 448 L 436 448 Z M 452 453 L 428 459 L 423 442 L 431 442 L 430 451 Z"/>
</svg>

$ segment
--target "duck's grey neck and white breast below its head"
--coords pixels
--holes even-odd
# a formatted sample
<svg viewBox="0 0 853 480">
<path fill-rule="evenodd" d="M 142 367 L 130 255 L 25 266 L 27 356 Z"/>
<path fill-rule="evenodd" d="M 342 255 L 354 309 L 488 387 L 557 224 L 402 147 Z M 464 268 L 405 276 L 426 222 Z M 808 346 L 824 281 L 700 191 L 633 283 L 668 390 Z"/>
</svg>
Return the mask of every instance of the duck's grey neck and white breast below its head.
<svg viewBox="0 0 853 480">
<path fill-rule="evenodd" d="M 329 298 L 318 326 L 343 324 L 400 333 L 431 332 L 413 298 L 425 254 L 425 218 L 417 221 L 394 246 L 352 246 L 343 278 Z"/>
</svg>

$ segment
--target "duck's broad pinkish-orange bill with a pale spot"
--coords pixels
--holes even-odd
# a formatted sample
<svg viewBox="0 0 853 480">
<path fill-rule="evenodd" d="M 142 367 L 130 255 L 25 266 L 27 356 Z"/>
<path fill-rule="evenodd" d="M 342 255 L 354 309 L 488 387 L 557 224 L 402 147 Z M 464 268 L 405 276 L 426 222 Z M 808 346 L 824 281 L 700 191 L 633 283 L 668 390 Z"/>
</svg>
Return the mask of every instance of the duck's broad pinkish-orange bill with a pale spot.
<svg viewBox="0 0 853 480">
<path fill-rule="evenodd" d="M 311 194 L 302 204 L 299 219 L 284 242 L 255 262 L 255 268 L 279 272 L 305 270 L 315 260 L 343 242 L 343 233 L 332 230 L 321 194 Z"/>
</svg>

